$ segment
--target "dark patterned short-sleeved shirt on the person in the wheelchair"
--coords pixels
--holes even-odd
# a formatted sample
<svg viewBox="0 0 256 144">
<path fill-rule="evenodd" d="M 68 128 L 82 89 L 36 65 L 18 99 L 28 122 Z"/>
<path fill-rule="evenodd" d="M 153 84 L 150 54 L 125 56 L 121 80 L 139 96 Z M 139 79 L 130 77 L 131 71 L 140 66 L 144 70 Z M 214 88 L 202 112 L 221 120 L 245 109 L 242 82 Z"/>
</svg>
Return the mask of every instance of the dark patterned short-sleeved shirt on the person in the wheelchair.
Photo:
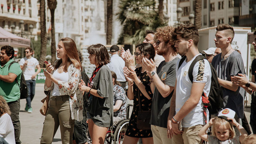
<svg viewBox="0 0 256 144">
<path fill-rule="evenodd" d="M 121 118 L 125 119 L 126 118 L 126 105 L 125 105 L 126 95 L 125 95 L 124 89 L 121 86 L 115 84 L 113 87 L 113 90 L 114 90 L 113 104 L 115 105 L 117 100 L 123 101 L 120 109 L 114 112 L 114 116 L 120 116 Z"/>
</svg>

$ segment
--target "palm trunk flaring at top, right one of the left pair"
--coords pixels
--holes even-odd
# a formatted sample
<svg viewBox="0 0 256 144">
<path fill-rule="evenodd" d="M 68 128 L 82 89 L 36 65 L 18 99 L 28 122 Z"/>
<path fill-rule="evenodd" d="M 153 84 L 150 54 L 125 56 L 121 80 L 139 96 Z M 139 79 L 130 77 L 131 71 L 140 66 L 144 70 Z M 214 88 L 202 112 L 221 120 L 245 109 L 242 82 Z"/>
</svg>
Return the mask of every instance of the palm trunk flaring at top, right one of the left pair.
<svg viewBox="0 0 256 144">
<path fill-rule="evenodd" d="M 51 53 L 52 53 L 52 64 L 56 60 L 56 43 L 55 43 L 55 26 L 54 26 L 54 11 L 57 6 L 56 0 L 47 0 L 48 7 L 51 11 L 51 34 L 52 34 L 52 43 L 51 43 Z"/>
</svg>

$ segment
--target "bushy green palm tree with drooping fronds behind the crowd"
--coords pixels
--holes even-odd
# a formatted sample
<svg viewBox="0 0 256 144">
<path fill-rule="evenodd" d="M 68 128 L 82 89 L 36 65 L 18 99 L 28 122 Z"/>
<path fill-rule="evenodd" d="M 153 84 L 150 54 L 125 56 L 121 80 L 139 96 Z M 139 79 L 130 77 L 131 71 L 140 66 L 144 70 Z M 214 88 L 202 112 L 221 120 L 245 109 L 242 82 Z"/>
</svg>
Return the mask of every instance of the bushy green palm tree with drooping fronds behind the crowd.
<svg viewBox="0 0 256 144">
<path fill-rule="evenodd" d="M 118 44 L 140 44 L 145 30 L 160 26 L 155 0 L 120 0 L 117 16 L 123 25 Z"/>
</svg>

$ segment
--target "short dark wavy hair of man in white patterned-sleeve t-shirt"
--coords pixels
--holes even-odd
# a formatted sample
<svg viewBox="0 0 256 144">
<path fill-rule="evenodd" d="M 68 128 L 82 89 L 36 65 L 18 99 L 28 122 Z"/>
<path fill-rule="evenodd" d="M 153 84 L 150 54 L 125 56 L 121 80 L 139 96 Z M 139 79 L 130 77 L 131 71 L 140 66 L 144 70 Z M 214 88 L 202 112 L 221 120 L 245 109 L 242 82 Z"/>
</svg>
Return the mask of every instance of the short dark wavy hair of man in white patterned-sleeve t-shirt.
<svg viewBox="0 0 256 144">
<path fill-rule="evenodd" d="M 177 36 L 181 36 L 185 40 L 192 39 L 194 44 L 197 46 L 199 42 L 199 34 L 195 25 L 183 24 L 174 29 L 173 39 L 177 40 Z"/>
</svg>

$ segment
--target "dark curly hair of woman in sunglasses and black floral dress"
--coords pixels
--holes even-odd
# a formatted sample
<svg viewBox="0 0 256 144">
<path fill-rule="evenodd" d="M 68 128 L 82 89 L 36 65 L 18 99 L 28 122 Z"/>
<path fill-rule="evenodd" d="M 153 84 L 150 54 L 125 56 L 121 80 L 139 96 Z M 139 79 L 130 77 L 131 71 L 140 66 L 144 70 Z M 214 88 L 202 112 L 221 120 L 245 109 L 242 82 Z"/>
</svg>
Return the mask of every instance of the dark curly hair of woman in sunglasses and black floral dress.
<svg viewBox="0 0 256 144">
<path fill-rule="evenodd" d="M 142 43 L 142 44 L 136 45 L 136 48 L 138 48 L 142 54 L 149 55 L 148 60 L 150 60 L 150 59 L 154 60 L 156 51 L 152 44 Z"/>
</svg>

